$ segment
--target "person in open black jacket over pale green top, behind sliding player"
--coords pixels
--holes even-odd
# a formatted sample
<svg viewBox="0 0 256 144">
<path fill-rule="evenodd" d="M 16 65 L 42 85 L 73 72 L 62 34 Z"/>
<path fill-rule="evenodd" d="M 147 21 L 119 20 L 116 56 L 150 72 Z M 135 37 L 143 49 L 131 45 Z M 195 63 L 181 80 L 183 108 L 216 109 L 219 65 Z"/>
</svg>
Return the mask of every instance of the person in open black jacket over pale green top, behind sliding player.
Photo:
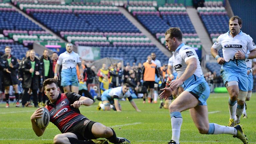
<svg viewBox="0 0 256 144">
<path fill-rule="evenodd" d="M 42 67 L 42 74 L 40 76 L 40 83 L 39 83 L 39 92 L 38 92 L 38 102 L 39 106 L 43 107 L 45 105 L 45 101 L 47 100 L 46 95 L 43 93 L 43 81 L 48 78 L 54 77 L 54 72 L 52 70 L 52 60 L 49 57 L 49 51 L 44 50 L 43 56 L 40 57 L 40 65 Z M 43 101 L 42 101 L 43 98 Z"/>
</svg>

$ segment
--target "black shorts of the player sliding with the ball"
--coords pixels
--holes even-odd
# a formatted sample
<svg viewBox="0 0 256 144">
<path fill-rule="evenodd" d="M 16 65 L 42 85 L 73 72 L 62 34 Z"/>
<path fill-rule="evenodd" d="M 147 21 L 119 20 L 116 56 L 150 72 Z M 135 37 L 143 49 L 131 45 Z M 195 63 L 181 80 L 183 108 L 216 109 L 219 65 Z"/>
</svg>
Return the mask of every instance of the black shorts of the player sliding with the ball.
<svg viewBox="0 0 256 144">
<path fill-rule="evenodd" d="M 97 139 L 92 134 L 92 125 L 94 123 L 96 122 L 84 118 L 72 126 L 67 132 L 75 134 L 79 140 Z"/>
</svg>

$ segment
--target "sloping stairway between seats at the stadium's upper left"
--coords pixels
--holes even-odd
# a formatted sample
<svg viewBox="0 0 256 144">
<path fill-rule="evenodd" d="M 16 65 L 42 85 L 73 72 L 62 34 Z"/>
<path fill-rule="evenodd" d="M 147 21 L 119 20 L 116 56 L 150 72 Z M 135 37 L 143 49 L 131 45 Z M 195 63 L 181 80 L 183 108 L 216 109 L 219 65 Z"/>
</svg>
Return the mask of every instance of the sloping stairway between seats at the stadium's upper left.
<svg viewBox="0 0 256 144">
<path fill-rule="evenodd" d="M 57 39 L 60 40 L 60 42 L 67 42 L 65 40 L 63 40 L 61 37 L 59 37 L 58 35 L 56 35 L 54 32 L 52 32 L 51 30 L 49 30 L 48 28 L 46 28 L 44 25 L 40 24 L 39 22 L 37 22 L 36 20 L 34 20 L 33 18 L 31 18 L 29 15 L 27 15 L 26 13 L 24 13 L 22 10 L 20 10 L 19 8 L 15 7 L 14 5 L 11 4 L 11 6 L 20 14 L 22 14 L 23 16 L 25 16 L 26 18 L 28 18 L 29 20 L 31 20 L 33 23 L 39 25 L 42 29 L 44 29 L 45 31 L 49 32 L 52 36 L 56 36 Z"/>
</svg>

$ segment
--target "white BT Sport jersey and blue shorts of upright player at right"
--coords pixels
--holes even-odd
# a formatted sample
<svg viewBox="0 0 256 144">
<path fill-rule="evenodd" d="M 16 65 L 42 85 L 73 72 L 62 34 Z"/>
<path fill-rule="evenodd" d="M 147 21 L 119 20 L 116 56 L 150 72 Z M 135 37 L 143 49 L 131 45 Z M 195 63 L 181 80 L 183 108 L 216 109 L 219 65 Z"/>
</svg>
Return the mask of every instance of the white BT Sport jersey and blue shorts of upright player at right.
<svg viewBox="0 0 256 144">
<path fill-rule="evenodd" d="M 232 37 L 228 31 L 218 37 L 213 44 L 217 51 L 222 48 L 225 63 L 221 67 L 221 75 L 224 84 L 230 81 L 237 81 L 238 87 L 242 91 L 248 91 L 248 75 L 245 60 L 235 59 L 235 53 L 238 51 L 247 54 L 256 48 L 253 39 L 240 31 L 235 37 Z"/>
</svg>

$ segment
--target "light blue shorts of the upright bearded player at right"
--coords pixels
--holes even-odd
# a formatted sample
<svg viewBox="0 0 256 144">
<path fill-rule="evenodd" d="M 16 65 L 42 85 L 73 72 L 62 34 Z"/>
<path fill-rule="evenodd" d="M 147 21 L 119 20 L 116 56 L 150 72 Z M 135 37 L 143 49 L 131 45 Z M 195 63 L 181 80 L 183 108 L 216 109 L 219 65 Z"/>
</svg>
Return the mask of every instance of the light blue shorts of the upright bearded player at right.
<svg viewBox="0 0 256 144">
<path fill-rule="evenodd" d="M 235 71 L 230 71 L 230 70 L 226 71 L 226 70 L 221 69 L 220 74 L 222 76 L 224 84 L 226 84 L 227 82 L 230 82 L 230 81 L 237 81 L 239 90 L 248 91 L 247 71 L 238 73 Z"/>
</svg>

